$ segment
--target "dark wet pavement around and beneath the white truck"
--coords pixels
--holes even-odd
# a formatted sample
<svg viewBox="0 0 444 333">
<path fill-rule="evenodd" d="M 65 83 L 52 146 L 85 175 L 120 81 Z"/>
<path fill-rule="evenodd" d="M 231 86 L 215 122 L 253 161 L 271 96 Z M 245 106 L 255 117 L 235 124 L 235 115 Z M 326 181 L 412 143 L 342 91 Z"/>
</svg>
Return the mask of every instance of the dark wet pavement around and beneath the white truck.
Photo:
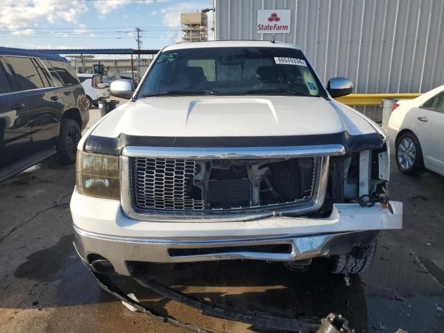
<svg viewBox="0 0 444 333">
<path fill-rule="evenodd" d="M 279 263 L 151 264 L 146 270 L 230 307 L 320 318 L 335 311 L 355 332 L 444 332 L 444 177 L 392 170 L 391 198 L 404 201 L 404 229 L 380 234 L 370 270 L 353 276 L 350 287 L 341 275 L 292 272 Z M 65 194 L 74 182 L 74 167 L 52 158 L 0 183 L 0 332 L 184 332 L 126 309 L 95 284 L 72 246 Z M 157 313 L 185 323 L 275 332 L 203 316 L 130 278 L 117 282 Z"/>
</svg>

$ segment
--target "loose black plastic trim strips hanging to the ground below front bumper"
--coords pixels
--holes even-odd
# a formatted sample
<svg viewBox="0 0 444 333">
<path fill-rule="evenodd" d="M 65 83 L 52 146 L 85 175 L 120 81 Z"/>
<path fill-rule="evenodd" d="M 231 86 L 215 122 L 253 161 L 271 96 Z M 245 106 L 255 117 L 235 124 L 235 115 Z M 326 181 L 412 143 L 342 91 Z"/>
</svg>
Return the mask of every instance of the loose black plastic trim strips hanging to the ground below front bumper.
<svg viewBox="0 0 444 333">
<path fill-rule="evenodd" d="M 241 323 L 247 323 L 257 327 L 271 328 L 275 330 L 285 330 L 290 332 L 316 332 L 320 327 L 321 321 L 316 318 L 286 318 L 281 316 L 275 316 L 273 314 L 264 314 L 261 312 L 248 311 L 242 309 L 236 309 L 233 307 L 225 307 L 223 305 L 218 305 L 216 303 L 207 302 L 203 299 L 191 297 L 181 293 L 175 289 L 164 286 L 150 278 L 146 278 L 138 269 L 131 267 L 133 278 L 141 284 L 143 287 L 149 288 L 155 293 L 161 296 L 167 297 L 171 300 L 176 300 L 182 304 L 193 307 L 203 312 L 207 316 L 214 316 L 216 318 L 227 319 L 230 321 L 239 321 Z M 151 318 L 156 321 L 161 321 L 164 323 L 169 323 L 171 325 L 181 327 L 185 330 L 191 332 L 201 332 L 201 333 L 214 333 L 219 332 L 203 327 L 198 327 L 196 325 L 190 325 L 186 323 L 180 323 L 175 319 L 160 316 L 155 314 L 151 309 L 145 307 L 142 303 L 133 300 L 126 296 L 123 291 L 117 287 L 112 280 L 105 274 L 94 272 L 90 270 L 90 273 L 96 280 L 96 282 L 108 293 L 119 300 L 126 302 L 128 305 L 135 307 L 135 309 L 148 314 Z"/>
</svg>

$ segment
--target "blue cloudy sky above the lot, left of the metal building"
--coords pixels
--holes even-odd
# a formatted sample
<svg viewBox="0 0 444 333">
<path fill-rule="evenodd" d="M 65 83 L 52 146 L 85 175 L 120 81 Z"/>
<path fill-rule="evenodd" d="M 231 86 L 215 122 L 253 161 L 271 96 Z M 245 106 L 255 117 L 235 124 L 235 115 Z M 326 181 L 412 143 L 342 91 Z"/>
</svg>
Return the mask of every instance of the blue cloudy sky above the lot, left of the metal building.
<svg viewBox="0 0 444 333">
<path fill-rule="evenodd" d="M 180 41 L 180 12 L 212 0 L 0 0 L 0 46 L 23 49 L 160 49 Z M 212 35 L 212 12 L 208 15 Z"/>
</svg>

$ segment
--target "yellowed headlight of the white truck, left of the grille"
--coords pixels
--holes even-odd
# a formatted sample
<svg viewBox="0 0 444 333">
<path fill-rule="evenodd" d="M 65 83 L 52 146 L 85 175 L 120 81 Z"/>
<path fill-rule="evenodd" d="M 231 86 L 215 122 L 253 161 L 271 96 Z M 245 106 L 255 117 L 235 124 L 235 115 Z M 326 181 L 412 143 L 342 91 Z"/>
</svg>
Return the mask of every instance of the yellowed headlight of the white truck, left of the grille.
<svg viewBox="0 0 444 333">
<path fill-rule="evenodd" d="M 77 151 L 76 185 L 85 196 L 119 200 L 119 156 Z"/>
</svg>

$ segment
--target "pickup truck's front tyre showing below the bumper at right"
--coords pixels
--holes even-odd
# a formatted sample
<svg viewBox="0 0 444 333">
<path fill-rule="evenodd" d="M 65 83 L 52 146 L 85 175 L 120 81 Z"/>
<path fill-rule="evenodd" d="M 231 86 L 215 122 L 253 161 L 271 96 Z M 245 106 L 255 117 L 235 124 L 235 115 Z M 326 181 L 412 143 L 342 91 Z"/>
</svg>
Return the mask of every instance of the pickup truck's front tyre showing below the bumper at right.
<svg viewBox="0 0 444 333">
<path fill-rule="evenodd" d="M 376 241 L 368 246 L 356 248 L 350 255 L 333 255 L 330 257 L 332 261 L 332 273 L 344 274 L 345 265 L 347 273 L 356 274 L 365 271 L 373 262 L 376 252 Z"/>
</svg>

